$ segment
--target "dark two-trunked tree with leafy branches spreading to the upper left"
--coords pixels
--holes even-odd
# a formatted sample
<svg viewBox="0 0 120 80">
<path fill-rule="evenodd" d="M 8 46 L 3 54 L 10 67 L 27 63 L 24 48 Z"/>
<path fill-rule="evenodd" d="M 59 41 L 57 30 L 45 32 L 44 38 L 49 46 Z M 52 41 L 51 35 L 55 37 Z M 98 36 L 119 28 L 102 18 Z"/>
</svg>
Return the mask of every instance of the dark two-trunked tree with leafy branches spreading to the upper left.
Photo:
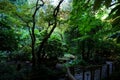
<svg viewBox="0 0 120 80">
<path fill-rule="evenodd" d="M 31 41 L 32 41 L 31 48 L 32 48 L 33 66 L 40 63 L 41 62 L 40 58 L 43 58 L 43 56 L 45 55 L 42 53 L 42 50 L 44 48 L 45 43 L 48 41 L 48 38 L 51 36 L 51 34 L 53 33 L 54 29 L 57 26 L 57 21 L 58 21 L 57 16 L 58 16 L 58 13 L 60 10 L 60 5 L 62 2 L 63 2 L 63 0 L 61 0 L 58 3 L 58 5 L 54 8 L 53 13 L 51 15 L 52 19 L 49 20 L 47 23 L 49 30 L 47 31 L 47 34 L 44 35 L 43 40 L 39 41 L 39 43 L 38 42 L 36 43 L 36 39 L 39 39 L 39 38 L 36 38 L 36 33 L 35 33 L 37 26 L 38 26 L 38 23 L 37 23 L 38 18 L 36 18 L 36 17 L 40 17 L 38 12 L 40 11 L 39 9 L 44 6 L 45 2 L 43 0 L 37 0 L 35 6 L 29 6 L 28 4 L 27 5 L 24 4 L 22 6 L 21 5 L 14 5 L 8 1 L 1 1 L 0 2 L 0 4 L 9 4 L 7 6 L 8 8 L 1 5 L 1 12 L 5 13 L 7 15 L 10 15 L 16 21 L 19 21 L 20 22 L 19 24 L 21 26 L 28 27 L 29 34 L 30 34 Z M 8 10 L 9 7 L 11 7 L 12 10 Z M 33 14 L 31 15 L 30 13 L 33 13 Z M 16 25 L 18 25 L 18 23 Z M 37 52 L 35 52 L 36 47 L 39 48 L 37 50 Z"/>
</svg>

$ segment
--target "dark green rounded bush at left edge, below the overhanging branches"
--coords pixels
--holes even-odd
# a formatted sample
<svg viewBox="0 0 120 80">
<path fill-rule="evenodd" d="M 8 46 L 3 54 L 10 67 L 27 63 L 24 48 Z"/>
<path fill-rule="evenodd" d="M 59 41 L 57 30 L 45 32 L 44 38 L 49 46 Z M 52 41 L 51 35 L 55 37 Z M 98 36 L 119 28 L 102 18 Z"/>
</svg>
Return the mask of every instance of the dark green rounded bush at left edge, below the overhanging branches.
<svg viewBox="0 0 120 80">
<path fill-rule="evenodd" d="M 8 18 L 5 16 L 0 20 L 0 50 L 9 50 L 12 51 L 18 47 L 18 34 L 14 31 L 11 24 L 7 22 Z"/>
</svg>

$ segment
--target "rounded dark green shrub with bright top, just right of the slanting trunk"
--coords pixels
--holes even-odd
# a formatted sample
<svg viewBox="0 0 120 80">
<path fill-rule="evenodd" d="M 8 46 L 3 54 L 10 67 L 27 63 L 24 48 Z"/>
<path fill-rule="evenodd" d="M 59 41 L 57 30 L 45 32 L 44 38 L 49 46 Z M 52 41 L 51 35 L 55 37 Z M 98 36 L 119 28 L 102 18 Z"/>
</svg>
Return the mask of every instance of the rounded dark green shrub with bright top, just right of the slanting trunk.
<svg viewBox="0 0 120 80">
<path fill-rule="evenodd" d="M 66 47 L 58 35 L 52 35 L 45 45 L 45 51 L 49 57 L 60 57 L 65 53 Z"/>
</svg>

